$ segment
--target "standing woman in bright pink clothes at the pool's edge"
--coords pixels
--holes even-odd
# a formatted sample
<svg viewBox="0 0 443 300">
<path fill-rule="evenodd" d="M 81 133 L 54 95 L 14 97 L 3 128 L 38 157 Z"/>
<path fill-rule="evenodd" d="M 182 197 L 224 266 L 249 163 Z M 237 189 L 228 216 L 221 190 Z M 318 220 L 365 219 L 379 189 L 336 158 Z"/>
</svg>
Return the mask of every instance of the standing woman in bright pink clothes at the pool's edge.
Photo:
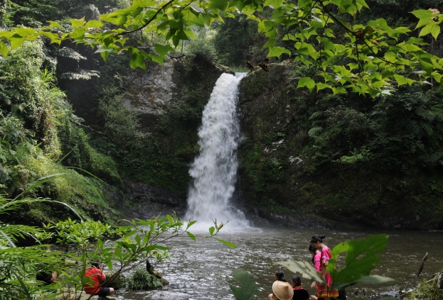
<svg viewBox="0 0 443 300">
<path fill-rule="evenodd" d="M 326 270 L 326 266 L 328 265 L 329 259 L 331 259 L 331 250 L 323 243 L 324 235 L 314 235 L 311 238 L 311 245 L 317 250 L 321 251 L 320 262 L 316 263 L 316 257 L 318 257 L 318 253 L 314 257 L 314 265 L 316 267 L 316 271 L 319 272 L 321 277 L 324 278 L 326 285 L 324 284 L 316 284 L 316 282 L 312 282 L 311 289 L 314 289 L 317 286 L 316 296 L 318 298 L 323 298 L 324 300 L 329 300 L 331 298 L 338 297 L 338 291 L 336 289 L 331 289 L 332 278 L 329 272 Z M 312 299 L 315 299 L 314 296 Z"/>
</svg>

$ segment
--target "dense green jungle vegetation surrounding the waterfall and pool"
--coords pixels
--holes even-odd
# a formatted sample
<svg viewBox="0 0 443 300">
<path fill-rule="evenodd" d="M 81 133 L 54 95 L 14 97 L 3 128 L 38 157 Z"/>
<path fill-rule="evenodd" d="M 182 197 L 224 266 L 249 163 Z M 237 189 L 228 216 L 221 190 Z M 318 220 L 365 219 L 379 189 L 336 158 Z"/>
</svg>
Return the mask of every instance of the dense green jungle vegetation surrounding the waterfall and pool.
<svg viewBox="0 0 443 300">
<path fill-rule="evenodd" d="M 284 6 L 220 0 L 201 2 L 201 11 L 186 1 L 173 3 L 146 9 L 156 2 L 0 2 L 1 255 L 31 238 L 78 243 L 72 258 L 83 267 L 91 258 L 112 268 L 112 260 L 163 255 L 166 248 L 149 245 L 156 243 L 149 238 L 146 245 L 129 239 L 150 234 L 133 223 L 107 223 L 134 204 L 126 196 L 132 182 L 186 199 L 188 164 L 198 153 L 196 130 L 210 94 L 200 82 L 213 83 L 208 66 L 215 61 L 247 72 L 246 61 L 257 65 L 265 57 L 275 65 L 291 63 L 270 79 L 272 72 L 256 67 L 242 87 L 245 103 L 275 87 L 279 95 L 267 94 L 262 100 L 272 100 L 269 110 L 245 123 L 245 206 L 372 224 L 401 215 L 415 219 L 411 227 L 442 227 L 443 1 L 299 0 Z M 184 75 L 181 98 L 166 113 L 146 118 L 122 105 L 130 67 L 149 72 L 172 57 L 179 57 Z M 295 111 L 284 126 L 274 126 L 286 104 L 295 104 Z M 264 152 L 281 139 L 289 142 Z M 287 157 L 301 157 L 303 164 L 294 167 Z M 26 227 L 48 222 L 44 229 Z M 78 222 L 87 230 L 78 230 Z M 152 222 L 144 225 L 182 225 L 175 216 Z M 102 240 L 117 236 L 126 240 L 113 244 L 114 252 L 87 256 L 92 243 L 103 250 Z M 19 275 L 30 271 L 28 262 L 46 257 L 46 245 L 26 252 L 28 261 L 9 256 L 0 270 L 0 296 L 43 295 Z M 62 257 L 55 251 L 43 262 L 54 267 Z M 69 280 L 79 282 L 81 270 L 78 276 Z"/>
</svg>

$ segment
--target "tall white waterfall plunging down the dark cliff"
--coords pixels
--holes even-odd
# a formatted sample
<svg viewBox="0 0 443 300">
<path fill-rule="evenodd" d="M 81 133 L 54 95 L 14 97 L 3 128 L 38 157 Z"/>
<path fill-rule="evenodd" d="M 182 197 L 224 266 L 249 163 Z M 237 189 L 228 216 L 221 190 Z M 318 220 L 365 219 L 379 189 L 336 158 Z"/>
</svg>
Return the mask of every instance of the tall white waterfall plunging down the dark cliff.
<svg viewBox="0 0 443 300">
<path fill-rule="evenodd" d="M 244 215 L 231 205 L 240 138 L 238 84 L 245 74 L 223 73 L 203 110 L 198 130 L 200 153 L 189 170 L 193 184 L 188 192 L 186 215 L 198 223 L 212 223 L 216 219 L 224 223 L 230 221 L 234 226 L 247 226 Z"/>
</svg>

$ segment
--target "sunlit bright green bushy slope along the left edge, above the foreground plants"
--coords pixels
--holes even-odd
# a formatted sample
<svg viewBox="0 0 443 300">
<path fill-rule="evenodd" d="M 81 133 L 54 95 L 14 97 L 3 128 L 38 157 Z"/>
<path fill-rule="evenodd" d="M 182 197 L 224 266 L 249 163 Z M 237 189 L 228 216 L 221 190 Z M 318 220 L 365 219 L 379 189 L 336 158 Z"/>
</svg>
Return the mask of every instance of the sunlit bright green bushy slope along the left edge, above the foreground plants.
<svg viewBox="0 0 443 300">
<path fill-rule="evenodd" d="M 76 126 L 65 94 L 55 86 L 55 76 L 43 67 L 48 65 L 39 42 L 26 42 L 1 60 L 0 92 L 5 101 L 0 104 L 0 191 L 11 197 L 21 194 L 41 182 L 48 174 L 67 174 L 51 182 L 39 184 L 31 191 L 34 197 L 50 197 L 65 204 L 78 205 L 85 216 L 110 220 L 114 212 L 97 196 L 98 190 L 109 189 L 93 177 L 87 179 L 78 172 L 66 170 L 58 160 L 68 155 L 73 167 L 85 167 L 105 180 L 119 184 L 121 179 L 115 163 L 87 144 L 85 133 Z M 68 161 L 63 161 L 67 163 Z M 69 165 L 69 164 L 67 164 Z M 83 172 L 83 174 L 90 176 Z M 110 194 L 104 193 L 105 199 Z M 95 209 L 92 209 L 95 205 Z M 49 206 L 53 206 L 50 204 Z M 54 218 L 68 218 L 70 211 L 60 206 L 26 204 L 21 210 L 5 216 L 38 224 Z M 31 218 L 30 218 L 31 217 Z"/>
</svg>

